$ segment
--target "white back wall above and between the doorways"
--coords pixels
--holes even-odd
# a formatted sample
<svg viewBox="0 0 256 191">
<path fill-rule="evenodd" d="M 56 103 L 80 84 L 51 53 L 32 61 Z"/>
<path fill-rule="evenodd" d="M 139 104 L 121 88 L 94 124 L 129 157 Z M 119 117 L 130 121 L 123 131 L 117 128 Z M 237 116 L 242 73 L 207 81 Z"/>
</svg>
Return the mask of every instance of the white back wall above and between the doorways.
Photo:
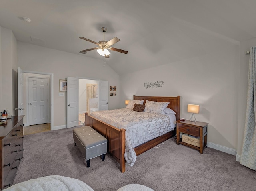
<svg viewBox="0 0 256 191">
<path fill-rule="evenodd" d="M 59 80 L 66 77 L 84 77 L 106 80 L 119 86 L 119 75 L 108 65 L 103 67 L 102 59 L 92 59 L 55 49 L 18 42 L 18 67 L 24 71 L 53 74 L 54 127 L 66 125 L 66 93 L 59 96 Z M 119 96 L 109 98 L 109 109 L 119 107 Z M 26 112 L 26 111 L 25 111 Z"/>
</svg>

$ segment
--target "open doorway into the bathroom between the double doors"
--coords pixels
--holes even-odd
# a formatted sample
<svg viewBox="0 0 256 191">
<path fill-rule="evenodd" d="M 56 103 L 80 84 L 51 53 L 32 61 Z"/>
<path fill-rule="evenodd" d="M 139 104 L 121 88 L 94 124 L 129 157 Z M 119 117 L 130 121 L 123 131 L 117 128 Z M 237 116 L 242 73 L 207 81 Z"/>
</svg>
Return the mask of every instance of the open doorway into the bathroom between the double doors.
<svg viewBox="0 0 256 191">
<path fill-rule="evenodd" d="M 98 110 L 98 80 L 79 79 L 79 125 L 84 124 L 85 114 Z"/>
</svg>

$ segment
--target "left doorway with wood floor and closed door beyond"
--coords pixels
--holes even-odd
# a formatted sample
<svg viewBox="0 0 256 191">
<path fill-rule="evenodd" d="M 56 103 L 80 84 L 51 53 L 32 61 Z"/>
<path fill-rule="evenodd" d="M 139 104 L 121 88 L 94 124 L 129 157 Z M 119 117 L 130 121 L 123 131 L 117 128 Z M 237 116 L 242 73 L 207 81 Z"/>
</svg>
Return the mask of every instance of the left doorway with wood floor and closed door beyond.
<svg viewBox="0 0 256 191">
<path fill-rule="evenodd" d="M 52 74 L 23 71 L 23 79 L 24 134 L 51 130 Z M 44 87 L 44 91 L 42 87 Z M 35 95 L 38 94 L 40 95 L 40 105 L 35 99 Z M 33 96 L 34 98 L 31 98 Z M 42 106 L 42 96 L 46 102 L 44 106 Z M 36 107 L 41 108 L 40 112 L 36 112 Z M 45 110 L 43 111 L 42 108 Z"/>
</svg>

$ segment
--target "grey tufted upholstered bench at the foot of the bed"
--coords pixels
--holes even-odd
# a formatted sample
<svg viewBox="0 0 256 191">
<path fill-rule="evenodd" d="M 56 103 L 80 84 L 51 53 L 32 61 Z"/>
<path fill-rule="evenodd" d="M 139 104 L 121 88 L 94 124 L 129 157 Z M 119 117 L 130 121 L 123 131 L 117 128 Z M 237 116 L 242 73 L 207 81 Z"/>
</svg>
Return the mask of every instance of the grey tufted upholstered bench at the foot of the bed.
<svg viewBox="0 0 256 191">
<path fill-rule="evenodd" d="M 87 167 L 90 167 L 90 159 L 101 156 L 102 161 L 107 153 L 107 139 L 96 132 L 90 126 L 73 129 L 75 145 L 78 146 L 86 159 Z"/>
</svg>

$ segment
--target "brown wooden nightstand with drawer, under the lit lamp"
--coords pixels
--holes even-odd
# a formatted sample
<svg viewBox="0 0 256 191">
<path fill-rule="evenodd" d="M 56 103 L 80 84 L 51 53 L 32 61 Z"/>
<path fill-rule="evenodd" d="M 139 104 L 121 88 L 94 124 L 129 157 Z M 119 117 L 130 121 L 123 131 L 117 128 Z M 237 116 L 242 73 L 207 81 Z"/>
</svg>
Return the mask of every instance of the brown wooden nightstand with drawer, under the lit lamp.
<svg viewBox="0 0 256 191">
<path fill-rule="evenodd" d="M 182 144 L 189 146 L 191 148 L 199 150 L 203 154 L 204 148 L 207 147 L 207 125 L 208 123 L 204 122 L 192 122 L 190 120 L 185 121 L 176 121 L 177 124 L 177 145 Z M 199 147 L 192 144 L 182 142 L 180 133 L 185 133 L 192 136 L 199 137 Z"/>
</svg>

